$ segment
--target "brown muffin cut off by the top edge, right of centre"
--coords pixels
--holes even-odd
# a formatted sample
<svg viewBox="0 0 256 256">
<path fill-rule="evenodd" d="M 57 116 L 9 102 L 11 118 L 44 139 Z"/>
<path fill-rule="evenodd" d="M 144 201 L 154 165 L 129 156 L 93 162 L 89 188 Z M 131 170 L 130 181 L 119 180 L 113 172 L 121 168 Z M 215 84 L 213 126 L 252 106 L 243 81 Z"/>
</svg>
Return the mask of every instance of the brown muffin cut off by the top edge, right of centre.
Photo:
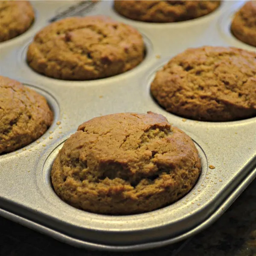
<svg viewBox="0 0 256 256">
<path fill-rule="evenodd" d="M 114 9 L 132 20 L 177 22 L 192 20 L 213 12 L 221 1 L 115 0 Z"/>
</svg>

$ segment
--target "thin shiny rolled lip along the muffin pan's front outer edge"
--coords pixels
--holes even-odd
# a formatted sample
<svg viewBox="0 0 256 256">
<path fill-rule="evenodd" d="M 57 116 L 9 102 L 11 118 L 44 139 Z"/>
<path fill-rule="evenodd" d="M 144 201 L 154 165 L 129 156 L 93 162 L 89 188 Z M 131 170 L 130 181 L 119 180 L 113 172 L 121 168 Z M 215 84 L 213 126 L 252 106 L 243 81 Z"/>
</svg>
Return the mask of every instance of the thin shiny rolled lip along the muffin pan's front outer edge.
<svg viewBox="0 0 256 256">
<path fill-rule="evenodd" d="M 221 205 L 215 209 L 215 211 L 209 215 L 207 219 L 205 219 L 201 224 L 197 225 L 196 227 L 193 227 L 192 229 L 175 236 L 170 239 L 165 239 L 161 241 L 151 241 L 147 243 L 142 244 L 134 244 L 134 245 L 108 245 L 108 244 L 97 244 L 92 243 L 88 241 L 83 241 L 81 239 L 77 239 L 71 236 L 68 236 L 66 234 L 63 234 L 59 231 L 56 231 L 52 228 L 46 227 L 42 224 L 38 224 L 35 221 L 29 220 L 28 218 L 24 218 L 20 215 L 17 215 L 15 213 L 12 213 L 6 209 L 3 209 L 0 207 L 0 215 L 8 218 L 12 221 L 15 221 L 19 224 L 22 224 L 24 226 L 27 226 L 29 228 L 32 228 L 34 230 L 40 230 L 41 233 L 44 233 L 48 236 L 51 236 L 54 239 L 57 239 L 59 241 L 66 242 L 70 245 L 76 246 L 76 247 L 83 247 L 87 249 L 92 250 L 102 250 L 102 251 L 116 251 L 116 252 L 132 252 L 132 251 L 139 251 L 139 250 L 148 250 L 153 249 L 157 247 L 163 247 L 168 244 L 174 244 L 179 241 L 182 241 L 184 239 L 187 239 L 205 228 L 209 227 L 212 223 L 214 223 L 224 212 L 230 207 L 231 204 L 233 204 L 233 201 L 236 200 L 236 198 L 241 194 L 241 192 L 246 189 L 246 187 L 256 178 L 256 167 L 254 166 L 254 169 L 252 169 L 252 172 L 250 172 L 250 175 L 248 175 L 242 182 L 239 184 L 239 186 L 236 187 L 235 190 L 226 198 L 224 202 L 222 202 Z"/>
</svg>

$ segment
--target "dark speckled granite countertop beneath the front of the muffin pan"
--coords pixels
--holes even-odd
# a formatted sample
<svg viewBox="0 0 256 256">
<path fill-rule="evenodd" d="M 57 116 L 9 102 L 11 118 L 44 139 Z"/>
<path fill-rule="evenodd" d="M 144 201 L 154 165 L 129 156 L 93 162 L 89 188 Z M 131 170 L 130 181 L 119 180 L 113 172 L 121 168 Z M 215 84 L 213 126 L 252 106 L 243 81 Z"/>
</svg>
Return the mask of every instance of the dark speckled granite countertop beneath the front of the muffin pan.
<svg viewBox="0 0 256 256">
<path fill-rule="evenodd" d="M 256 256 L 255 187 L 256 180 L 202 233 L 178 244 L 136 253 L 78 249 L 0 218 L 0 256 Z"/>
</svg>

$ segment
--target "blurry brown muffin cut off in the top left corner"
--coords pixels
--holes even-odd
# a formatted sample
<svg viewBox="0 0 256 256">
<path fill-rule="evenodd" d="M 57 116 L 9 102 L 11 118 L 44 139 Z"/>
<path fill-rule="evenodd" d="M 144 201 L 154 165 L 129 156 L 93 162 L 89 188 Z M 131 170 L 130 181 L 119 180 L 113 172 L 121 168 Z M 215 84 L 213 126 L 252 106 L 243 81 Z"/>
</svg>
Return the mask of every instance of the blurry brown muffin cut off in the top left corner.
<svg viewBox="0 0 256 256">
<path fill-rule="evenodd" d="M 0 42 L 24 33 L 34 19 L 29 1 L 0 1 Z"/>
</svg>

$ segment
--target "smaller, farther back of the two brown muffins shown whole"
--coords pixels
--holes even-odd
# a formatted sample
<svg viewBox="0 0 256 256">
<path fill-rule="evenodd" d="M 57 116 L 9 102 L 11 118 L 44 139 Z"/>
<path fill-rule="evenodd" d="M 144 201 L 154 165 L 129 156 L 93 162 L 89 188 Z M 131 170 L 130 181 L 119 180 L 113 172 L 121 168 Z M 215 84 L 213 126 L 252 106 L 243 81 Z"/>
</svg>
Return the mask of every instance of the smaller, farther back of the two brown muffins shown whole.
<svg viewBox="0 0 256 256">
<path fill-rule="evenodd" d="M 131 70 L 144 50 L 142 35 L 129 25 L 104 16 L 70 17 L 38 32 L 27 62 L 49 77 L 90 80 Z"/>
</svg>

